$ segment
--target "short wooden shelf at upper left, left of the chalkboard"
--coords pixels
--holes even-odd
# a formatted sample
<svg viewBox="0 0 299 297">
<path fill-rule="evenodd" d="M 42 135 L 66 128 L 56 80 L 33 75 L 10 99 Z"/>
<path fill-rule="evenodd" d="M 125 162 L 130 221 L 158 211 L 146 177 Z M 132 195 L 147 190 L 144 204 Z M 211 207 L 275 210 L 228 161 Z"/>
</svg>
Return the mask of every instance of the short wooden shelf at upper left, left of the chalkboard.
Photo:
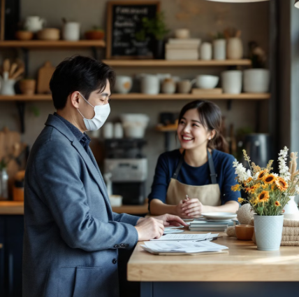
<svg viewBox="0 0 299 297">
<path fill-rule="evenodd" d="M 104 48 L 103 40 L 80 40 L 80 41 L 44 41 L 44 40 L 8 40 L 0 41 L 0 48 Z"/>
</svg>

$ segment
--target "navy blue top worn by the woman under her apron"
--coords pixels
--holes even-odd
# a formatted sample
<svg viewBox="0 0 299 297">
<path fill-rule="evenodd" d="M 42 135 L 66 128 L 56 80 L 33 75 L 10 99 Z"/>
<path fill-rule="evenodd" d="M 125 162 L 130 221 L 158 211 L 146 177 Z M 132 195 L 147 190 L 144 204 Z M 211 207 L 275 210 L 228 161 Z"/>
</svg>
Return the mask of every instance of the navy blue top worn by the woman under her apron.
<svg viewBox="0 0 299 297">
<path fill-rule="evenodd" d="M 149 203 L 153 199 L 159 199 L 163 203 L 166 203 L 168 185 L 181 156 L 182 154 L 178 149 L 162 153 L 159 156 L 156 164 L 154 181 L 152 183 L 152 193 L 149 194 Z M 238 202 L 240 192 L 231 191 L 231 186 L 237 184 L 235 181 L 237 174 L 235 174 L 235 169 L 233 168 L 235 157 L 214 149 L 212 151 L 212 159 L 217 174 L 217 183 L 219 184 L 221 192 L 221 205 L 224 205 L 231 200 Z M 189 186 L 205 186 L 212 184 L 209 163 L 206 162 L 200 167 L 192 167 L 184 161 L 181 170 L 177 175 L 177 180 Z M 182 200 L 183 199 L 184 197 L 182 197 Z"/>
</svg>

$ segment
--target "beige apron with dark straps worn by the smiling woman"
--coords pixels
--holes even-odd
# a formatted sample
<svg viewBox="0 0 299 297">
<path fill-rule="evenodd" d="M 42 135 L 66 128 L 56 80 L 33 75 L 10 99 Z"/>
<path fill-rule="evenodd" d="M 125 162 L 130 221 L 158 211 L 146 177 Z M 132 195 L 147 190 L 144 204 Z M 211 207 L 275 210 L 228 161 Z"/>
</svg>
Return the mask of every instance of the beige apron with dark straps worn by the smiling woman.
<svg viewBox="0 0 299 297">
<path fill-rule="evenodd" d="M 182 184 L 177 180 L 177 176 L 180 172 L 182 164 L 184 163 L 184 153 L 180 158 L 180 162 L 175 169 L 173 177 L 170 179 L 170 184 L 168 186 L 168 191 L 166 195 L 166 203 L 168 205 L 177 205 L 180 200 L 186 199 L 186 195 L 190 199 L 198 198 L 198 200 L 203 203 L 203 205 L 209 206 L 219 206 L 221 205 L 221 193 L 219 184 L 217 184 L 217 174 L 215 174 L 214 162 L 210 152 L 207 150 L 207 158 L 210 168 L 210 177 L 212 184 L 205 186 L 189 186 L 187 184 Z"/>
</svg>

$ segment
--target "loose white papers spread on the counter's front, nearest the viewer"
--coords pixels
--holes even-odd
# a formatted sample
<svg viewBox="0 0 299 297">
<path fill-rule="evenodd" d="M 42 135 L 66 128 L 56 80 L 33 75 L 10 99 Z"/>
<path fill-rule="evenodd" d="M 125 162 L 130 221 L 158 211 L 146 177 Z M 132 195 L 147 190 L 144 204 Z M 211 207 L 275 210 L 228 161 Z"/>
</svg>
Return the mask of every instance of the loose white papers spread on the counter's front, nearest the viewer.
<svg viewBox="0 0 299 297">
<path fill-rule="evenodd" d="M 159 241 L 145 242 L 141 246 L 145 251 L 152 254 L 200 254 L 200 253 L 215 253 L 221 252 L 228 247 L 209 240 L 200 242 L 196 241 Z"/>
</svg>

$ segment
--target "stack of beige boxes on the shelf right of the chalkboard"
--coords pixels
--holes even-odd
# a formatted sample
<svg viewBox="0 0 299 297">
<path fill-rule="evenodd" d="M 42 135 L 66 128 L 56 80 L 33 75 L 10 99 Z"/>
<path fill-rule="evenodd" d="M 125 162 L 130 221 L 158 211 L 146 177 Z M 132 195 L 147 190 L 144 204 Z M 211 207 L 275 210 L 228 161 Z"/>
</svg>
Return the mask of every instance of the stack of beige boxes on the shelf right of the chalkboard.
<svg viewBox="0 0 299 297">
<path fill-rule="evenodd" d="M 168 39 L 165 46 L 166 60 L 198 60 L 200 39 Z"/>
</svg>

